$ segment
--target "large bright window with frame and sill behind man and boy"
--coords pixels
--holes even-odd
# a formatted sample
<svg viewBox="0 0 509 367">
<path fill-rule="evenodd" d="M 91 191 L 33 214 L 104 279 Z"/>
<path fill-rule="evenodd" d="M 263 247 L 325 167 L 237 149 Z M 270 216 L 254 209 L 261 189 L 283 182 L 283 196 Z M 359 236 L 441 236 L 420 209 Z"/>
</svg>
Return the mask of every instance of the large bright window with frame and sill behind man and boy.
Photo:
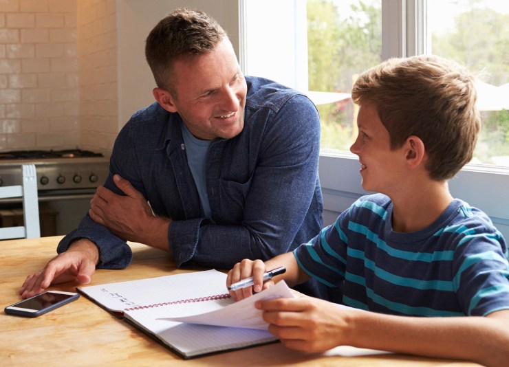
<svg viewBox="0 0 509 367">
<path fill-rule="evenodd" d="M 321 112 L 325 223 L 365 193 L 358 160 L 348 152 L 356 111 L 343 94 L 357 73 L 391 56 L 423 53 L 453 58 L 473 71 L 484 69 L 479 103 L 496 99 L 501 104 L 482 112 L 475 161 L 449 186 L 509 237 L 509 2 L 241 0 L 240 9 L 243 71 L 307 93 Z M 484 88 L 494 93 L 481 96 Z"/>
</svg>

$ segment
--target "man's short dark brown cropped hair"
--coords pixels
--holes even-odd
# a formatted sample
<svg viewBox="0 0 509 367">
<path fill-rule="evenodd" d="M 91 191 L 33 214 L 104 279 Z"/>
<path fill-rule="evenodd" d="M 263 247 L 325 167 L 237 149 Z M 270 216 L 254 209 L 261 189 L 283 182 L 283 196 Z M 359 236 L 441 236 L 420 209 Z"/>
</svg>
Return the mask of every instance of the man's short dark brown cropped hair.
<svg viewBox="0 0 509 367">
<path fill-rule="evenodd" d="M 176 98 L 175 60 L 210 52 L 226 36 L 221 25 L 202 11 L 181 8 L 171 12 L 155 25 L 145 44 L 155 83 Z"/>
</svg>

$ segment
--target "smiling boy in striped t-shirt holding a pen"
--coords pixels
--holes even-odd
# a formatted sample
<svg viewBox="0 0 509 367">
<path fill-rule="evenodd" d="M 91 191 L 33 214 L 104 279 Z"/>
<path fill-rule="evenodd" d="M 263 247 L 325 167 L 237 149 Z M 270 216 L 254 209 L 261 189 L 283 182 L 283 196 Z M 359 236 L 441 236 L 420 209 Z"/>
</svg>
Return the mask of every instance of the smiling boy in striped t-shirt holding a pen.
<svg viewBox="0 0 509 367">
<path fill-rule="evenodd" d="M 269 331 L 289 348 L 350 345 L 507 364 L 506 241 L 447 184 L 472 158 L 481 125 L 473 76 L 435 56 L 391 59 L 362 74 L 352 98 L 360 110 L 351 152 L 362 187 L 380 194 L 358 199 L 294 252 L 237 263 L 228 286 L 255 280 L 232 297 L 270 287 L 263 272 L 283 265 L 277 280 L 316 278 L 367 311 L 315 298 L 259 302 Z"/>
</svg>

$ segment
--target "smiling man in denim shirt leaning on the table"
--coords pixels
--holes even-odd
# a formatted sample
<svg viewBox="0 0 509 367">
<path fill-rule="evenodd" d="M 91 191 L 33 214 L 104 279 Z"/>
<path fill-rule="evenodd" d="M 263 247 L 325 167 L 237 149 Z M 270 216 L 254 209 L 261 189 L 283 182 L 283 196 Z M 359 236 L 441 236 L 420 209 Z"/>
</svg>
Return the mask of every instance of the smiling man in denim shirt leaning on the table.
<svg viewBox="0 0 509 367">
<path fill-rule="evenodd" d="M 177 266 L 228 268 L 287 252 L 322 226 L 320 126 L 308 98 L 244 78 L 226 33 L 203 12 L 166 16 L 145 52 L 157 102 L 120 131 L 89 215 L 27 278 L 23 298 L 127 267 L 125 241 L 164 249 Z"/>
</svg>

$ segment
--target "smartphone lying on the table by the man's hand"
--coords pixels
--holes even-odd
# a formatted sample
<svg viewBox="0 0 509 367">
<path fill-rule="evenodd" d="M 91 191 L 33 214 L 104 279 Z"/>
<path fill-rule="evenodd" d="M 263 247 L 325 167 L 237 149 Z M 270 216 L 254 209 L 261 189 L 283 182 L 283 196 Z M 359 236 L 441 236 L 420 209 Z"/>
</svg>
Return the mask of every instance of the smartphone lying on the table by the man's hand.
<svg viewBox="0 0 509 367">
<path fill-rule="evenodd" d="M 3 311 L 10 315 L 24 316 L 25 318 L 36 318 L 44 315 L 66 303 L 72 302 L 79 298 L 78 293 L 63 291 L 45 291 L 36 296 L 11 304 Z"/>
</svg>

